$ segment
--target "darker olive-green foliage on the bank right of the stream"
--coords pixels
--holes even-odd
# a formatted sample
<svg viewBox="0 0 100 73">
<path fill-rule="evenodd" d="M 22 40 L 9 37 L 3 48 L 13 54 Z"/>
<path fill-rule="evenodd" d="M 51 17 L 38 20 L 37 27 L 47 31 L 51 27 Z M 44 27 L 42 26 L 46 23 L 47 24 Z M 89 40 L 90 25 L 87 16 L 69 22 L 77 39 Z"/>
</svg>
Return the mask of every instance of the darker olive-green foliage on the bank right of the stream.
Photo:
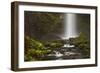
<svg viewBox="0 0 100 73">
<path fill-rule="evenodd" d="M 90 56 L 90 40 L 89 38 L 86 37 L 83 33 L 80 33 L 79 37 L 73 38 L 72 39 L 73 45 L 75 47 L 79 48 L 84 55 L 84 57 L 89 57 Z"/>
</svg>

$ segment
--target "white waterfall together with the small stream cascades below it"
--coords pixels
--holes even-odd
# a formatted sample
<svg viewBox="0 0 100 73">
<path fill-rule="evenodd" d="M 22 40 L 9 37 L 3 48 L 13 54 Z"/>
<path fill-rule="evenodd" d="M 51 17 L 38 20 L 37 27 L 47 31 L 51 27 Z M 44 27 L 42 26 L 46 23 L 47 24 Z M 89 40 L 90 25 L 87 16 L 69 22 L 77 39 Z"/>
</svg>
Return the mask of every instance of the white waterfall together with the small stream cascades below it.
<svg viewBox="0 0 100 73">
<path fill-rule="evenodd" d="M 77 17 L 76 14 L 68 13 L 64 15 L 64 33 L 61 37 L 63 40 L 77 37 Z M 74 47 L 74 45 L 64 44 L 63 47 Z M 66 51 L 65 53 L 72 54 L 72 52 Z M 67 55 L 67 54 L 66 54 Z M 56 53 L 56 57 L 62 56 L 60 52 Z"/>
</svg>

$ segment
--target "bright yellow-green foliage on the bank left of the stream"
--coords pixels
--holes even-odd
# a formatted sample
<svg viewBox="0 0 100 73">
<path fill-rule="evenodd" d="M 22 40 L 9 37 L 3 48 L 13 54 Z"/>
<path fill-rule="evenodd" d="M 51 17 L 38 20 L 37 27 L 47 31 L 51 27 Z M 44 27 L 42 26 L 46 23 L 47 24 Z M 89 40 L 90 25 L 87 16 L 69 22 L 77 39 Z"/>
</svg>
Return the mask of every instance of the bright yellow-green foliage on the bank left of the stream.
<svg viewBox="0 0 100 73">
<path fill-rule="evenodd" d="M 45 46 L 28 36 L 25 37 L 25 61 L 41 60 L 44 55 L 48 54 L 50 50 L 47 50 Z"/>
</svg>

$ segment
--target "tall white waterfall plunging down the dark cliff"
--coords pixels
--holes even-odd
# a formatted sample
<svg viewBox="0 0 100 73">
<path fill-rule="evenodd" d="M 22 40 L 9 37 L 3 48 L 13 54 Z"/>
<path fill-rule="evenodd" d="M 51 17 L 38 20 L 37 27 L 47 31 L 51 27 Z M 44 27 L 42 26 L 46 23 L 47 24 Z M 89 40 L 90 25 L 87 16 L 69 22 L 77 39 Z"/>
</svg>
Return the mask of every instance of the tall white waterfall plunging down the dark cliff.
<svg viewBox="0 0 100 73">
<path fill-rule="evenodd" d="M 77 34 L 77 18 L 76 14 L 68 13 L 64 15 L 64 34 L 62 39 L 76 37 Z"/>
</svg>

